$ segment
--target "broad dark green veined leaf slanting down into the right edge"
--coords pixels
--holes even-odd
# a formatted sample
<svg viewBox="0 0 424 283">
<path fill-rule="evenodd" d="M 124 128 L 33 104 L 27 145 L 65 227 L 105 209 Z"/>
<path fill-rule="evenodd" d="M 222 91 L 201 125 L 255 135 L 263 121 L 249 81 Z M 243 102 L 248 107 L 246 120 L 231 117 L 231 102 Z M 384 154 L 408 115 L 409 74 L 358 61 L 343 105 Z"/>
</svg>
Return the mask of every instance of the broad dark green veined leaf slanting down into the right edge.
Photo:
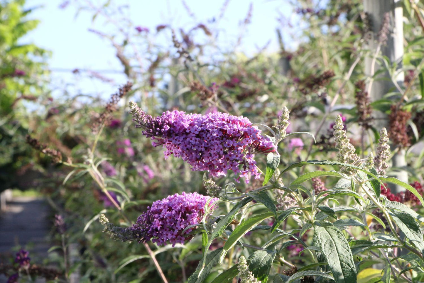
<svg viewBox="0 0 424 283">
<path fill-rule="evenodd" d="M 399 229 L 404 232 L 405 237 L 420 250 L 421 254 L 424 254 L 423 232 L 416 219 L 406 212 L 399 212 L 393 209 L 390 211 L 391 218 Z"/>
</svg>

